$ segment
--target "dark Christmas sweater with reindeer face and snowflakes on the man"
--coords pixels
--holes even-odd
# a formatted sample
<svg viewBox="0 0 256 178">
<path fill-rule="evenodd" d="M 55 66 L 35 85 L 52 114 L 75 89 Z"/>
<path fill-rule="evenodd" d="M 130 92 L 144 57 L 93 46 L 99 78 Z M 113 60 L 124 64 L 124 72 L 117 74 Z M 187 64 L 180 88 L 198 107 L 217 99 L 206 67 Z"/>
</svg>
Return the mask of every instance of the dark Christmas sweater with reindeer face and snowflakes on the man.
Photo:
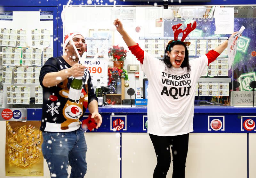
<svg viewBox="0 0 256 178">
<path fill-rule="evenodd" d="M 43 114 L 41 120 L 41 131 L 47 132 L 71 132 L 80 127 L 79 121 L 85 114 L 88 104 L 97 100 L 92 88 L 92 79 L 84 70 L 83 87 L 78 102 L 68 100 L 68 93 L 73 76 L 60 82 L 57 86 L 44 87 L 44 76 L 49 72 L 58 72 L 71 66 L 61 57 L 49 58 L 41 68 L 39 81 L 43 87 Z"/>
</svg>

